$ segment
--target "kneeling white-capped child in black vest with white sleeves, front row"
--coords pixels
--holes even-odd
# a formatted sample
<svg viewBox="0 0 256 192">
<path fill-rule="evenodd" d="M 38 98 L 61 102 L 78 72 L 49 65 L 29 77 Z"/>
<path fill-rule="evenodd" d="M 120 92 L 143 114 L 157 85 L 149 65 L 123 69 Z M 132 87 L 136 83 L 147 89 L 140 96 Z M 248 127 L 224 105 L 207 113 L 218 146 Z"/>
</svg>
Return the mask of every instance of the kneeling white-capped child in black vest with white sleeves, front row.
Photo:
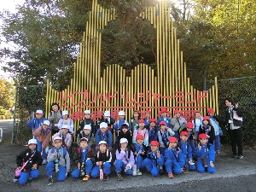
<svg viewBox="0 0 256 192">
<path fill-rule="evenodd" d="M 111 170 L 111 160 L 112 154 L 108 148 L 108 143 L 105 141 L 101 141 L 99 143 L 100 150 L 96 153 L 95 162 L 96 166 L 93 168 L 91 172 L 91 177 L 99 177 L 100 170 L 102 169 L 103 172 L 103 179 L 104 181 L 108 181 L 108 175 L 110 174 Z"/>
</svg>

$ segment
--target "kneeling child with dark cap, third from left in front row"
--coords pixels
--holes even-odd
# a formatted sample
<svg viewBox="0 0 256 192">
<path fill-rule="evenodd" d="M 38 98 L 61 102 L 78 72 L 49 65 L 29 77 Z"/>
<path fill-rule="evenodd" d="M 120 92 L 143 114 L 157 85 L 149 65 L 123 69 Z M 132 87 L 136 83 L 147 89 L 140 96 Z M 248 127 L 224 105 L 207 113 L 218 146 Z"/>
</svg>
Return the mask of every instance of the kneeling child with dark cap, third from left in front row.
<svg viewBox="0 0 256 192">
<path fill-rule="evenodd" d="M 88 145 L 88 139 L 83 137 L 80 139 L 80 147 L 76 149 L 73 155 L 73 162 L 77 168 L 71 173 L 72 177 L 84 177 L 83 181 L 88 181 L 92 170 L 92 149 Z"/>
</svg>

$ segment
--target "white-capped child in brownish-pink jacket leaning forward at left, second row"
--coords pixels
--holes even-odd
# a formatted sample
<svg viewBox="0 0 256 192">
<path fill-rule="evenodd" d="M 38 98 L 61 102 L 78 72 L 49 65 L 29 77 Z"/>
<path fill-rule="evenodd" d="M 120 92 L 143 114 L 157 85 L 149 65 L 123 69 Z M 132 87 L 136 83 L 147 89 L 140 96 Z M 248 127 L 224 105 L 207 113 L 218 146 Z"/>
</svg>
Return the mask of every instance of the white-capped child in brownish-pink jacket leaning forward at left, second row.
<svg viewBox="0 0 256 192">
<path fill-rule="evenodd" d="M 37 137 L 38 141 L 38 152 L 42 153 L 43 151 L 43 164 L 47 163 L 47 154 L 45 148 L 49 146 L 49 138 L 51 136 L 51 128 L 49 124 L 49 120 L 44 120 L 43 125 L 40 125 L 37 130 L 33 131 L 33 136 Z"/>
</svg>

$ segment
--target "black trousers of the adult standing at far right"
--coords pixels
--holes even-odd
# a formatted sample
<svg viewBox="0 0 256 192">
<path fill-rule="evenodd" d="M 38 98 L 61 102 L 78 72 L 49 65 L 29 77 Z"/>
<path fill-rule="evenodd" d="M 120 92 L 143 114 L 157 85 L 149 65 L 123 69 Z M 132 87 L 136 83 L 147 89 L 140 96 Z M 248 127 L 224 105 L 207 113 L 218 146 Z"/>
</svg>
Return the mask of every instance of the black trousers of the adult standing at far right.
<svg viewBox="0 0 256 192">
<path fill-rule="evenodd" d="M 241 146 L 241 127 L 236 130 L 230 130 L 231 146 L 233 154 L 236 154 L 236 145 L 238 148 L 238 155 L 242 155 Z"/>
</svg>

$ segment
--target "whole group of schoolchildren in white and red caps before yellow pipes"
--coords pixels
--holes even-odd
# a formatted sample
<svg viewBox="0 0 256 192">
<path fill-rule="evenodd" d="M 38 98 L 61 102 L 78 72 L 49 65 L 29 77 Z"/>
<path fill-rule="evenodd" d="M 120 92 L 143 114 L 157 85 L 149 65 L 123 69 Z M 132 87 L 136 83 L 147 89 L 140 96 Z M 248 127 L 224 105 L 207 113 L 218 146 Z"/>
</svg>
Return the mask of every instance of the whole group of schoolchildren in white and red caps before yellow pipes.
<svg viewBox="0 0 256 192">
<path fill-rule="evenodd" d="M 129 123 L 125 120 L 124 111 L 119 111 L 116 121 L 106 111 L 102 119 L 94 124 L 90 119 L 90 110 L 86 110 L 85 119 L 77 131 L 78 148 L 73 156 L 76 168 L 71 176 L 83 177 L 83 181 L 90 177 L 108 180 L 112 165 L 115 166 L 118 180 L 123 179 L 123 173 L 142 175 L 143 167 L 154 177 L 166 171 L 168 177 L 172 178 L 173 174 L 188 173 L 196 167 L 198 172 L 215 172 L 213 162 L 215 154 L 220 154 L 221 129 L 214 118 L 213 109 L 209 108 L 209 116 L 204 117 L 196 111 L 195 119 L 191 122 L 187 122 L 178 110 L 175 110 L 172 119 L 167 116 L 166 108 L 160 112 L 159 119 L 153 119 L 150 111 L 146 111 L 145 119 L 140 119 L 140 112 L 136 110 Z M 57 181 L 64 181 L 70 172 L 73 120 L 68 119 L 66 111 L 62 112 L 63 118 L 57 124 L 59 131 L 55 131 L 52 136 L 54 147 L 47 154 L 45 148 L 49 145 L 52 131 L 50 121 L 44 119 L 40 123 L 38 116 L 43 117 L 41 110 L 37 110 L 36 120 L 27 123 L 28 127 L 33 128 L 34 138 L 28 142 L 28 149 L 17 156 L 17 169 L 23 168 L 20 177 L 15 177 L 15 181 L 20 184 L 38 177 L 39 172 L 36 170 L 41 164 L 47 164 L 49 185 L 53 184 L 53 172 L 57 172 Z M 37 119 L 36 128 L 33 121 Z M 113 134 L 116 135 L 115 153 L 112 148 Z"/>
</svg>

